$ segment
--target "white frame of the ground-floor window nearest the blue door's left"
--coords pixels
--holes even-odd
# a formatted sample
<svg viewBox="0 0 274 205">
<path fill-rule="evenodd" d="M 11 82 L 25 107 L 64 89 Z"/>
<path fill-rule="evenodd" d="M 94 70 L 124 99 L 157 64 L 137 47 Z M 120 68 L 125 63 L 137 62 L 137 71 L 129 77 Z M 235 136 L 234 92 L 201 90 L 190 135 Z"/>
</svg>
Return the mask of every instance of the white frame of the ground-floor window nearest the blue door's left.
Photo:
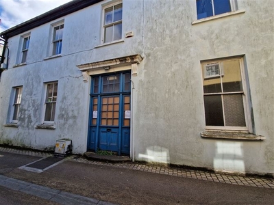
<svg viewBox="0 0 274 205">
<path fill-rule="evenodd" d="M 51 96 L 50 98 L 52 98 L 53 99 L 53 97 L 54 98 L 56 98 L 56 100 L 52 100 L 51 102 L 48 102 L 47 101 L 47 93 L 48 93 L 48 85 L 51 85 L 51 84 L 53 84 L 53 86 L 54 86 L 54 84 L 55 83 L 57 83 L 57 88 L 58 88 L 58 81 L 52 81 L 52 82 L 47 82 L 47 83 L 45 83 L 45 92 L 44 92 L 44 100 L 43 100 L 43 103 L 44 103 L 44 109 L 43 109 L 43 115 L 42 115 L 42 124 L 48 124 L 48 125 L 52 125 L 52 124 L 54 124 L 54 121 L 55 121 L 55 113 L 56 113 L 56 104 L 57 104 L 57 96 L 58 96 L 58 90 L 57 90 L 57 94 L 56 94 L 56 96 Z M 53 90 L 54 90 L 54 88 L 53 88 Z M 55 103 L 55 113 L 54 113 L 54 120 L 45 120 L 45 118 L 46 118 L 46 111 L 47 111 L 47 104 L 49 104 L 49 103 L 51 103 L 51 104 L 53 104 L 53 103 Z M 51 108 L 51 118 L 52 118 L 52 108 Z"/>
</svg>

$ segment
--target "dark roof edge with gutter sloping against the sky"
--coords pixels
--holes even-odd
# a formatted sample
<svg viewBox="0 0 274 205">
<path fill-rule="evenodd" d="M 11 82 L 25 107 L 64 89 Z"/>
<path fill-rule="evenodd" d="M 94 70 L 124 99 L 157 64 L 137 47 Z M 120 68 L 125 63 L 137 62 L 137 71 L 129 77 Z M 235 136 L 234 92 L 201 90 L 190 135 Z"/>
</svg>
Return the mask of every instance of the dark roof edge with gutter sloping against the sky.
<svg viewBox="0 0 274 205">
<path fill-rule="evenodd" d="M 1 32 L 0 37 L 5 38 L 5 40 L 7 40 L 8 38 L 10 38 L 12 36 L 16 36 L 20 33 L 25 32 L 25 31 L 29 31 L 30 29 L 33 29 L 33 28 L 43 25 L 45 23 L 49 23 L 51 20 L 55 20 L 62 16 L 66 16 L 67 14 L 77 12 L 78 10 L 82 10 L 83 8 L 86 8 L 86 7 L 93 5 L 95 3 L 99 3 L 100 1 L 103 1 L 103 0 L 88 0 L 88 1 L 73 0 L 73 1 L 69 1 L 68 3 L 60 5 L 58 8 L 54 8 L 53 10 L 50 10 L 49 12 L 45 12 L 44 14 L 41 14 L 34 18 L 31 18 L 19 25 L 16 25 L 10 29 L 7 29 L 7 30 Z"/>
</svg>

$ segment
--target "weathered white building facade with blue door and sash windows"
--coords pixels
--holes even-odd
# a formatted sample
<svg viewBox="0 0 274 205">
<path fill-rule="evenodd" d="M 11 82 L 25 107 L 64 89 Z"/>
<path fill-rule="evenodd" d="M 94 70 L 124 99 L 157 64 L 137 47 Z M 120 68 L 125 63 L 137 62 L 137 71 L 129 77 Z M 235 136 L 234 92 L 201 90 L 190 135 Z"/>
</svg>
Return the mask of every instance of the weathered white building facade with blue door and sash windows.
<svg viewBox="0 0 274 205">
<path fill-rule="evenodd" d="M 0 143 L 274 176 L 272 8 L 79 0 L 3 31 Z"/>
</svg>

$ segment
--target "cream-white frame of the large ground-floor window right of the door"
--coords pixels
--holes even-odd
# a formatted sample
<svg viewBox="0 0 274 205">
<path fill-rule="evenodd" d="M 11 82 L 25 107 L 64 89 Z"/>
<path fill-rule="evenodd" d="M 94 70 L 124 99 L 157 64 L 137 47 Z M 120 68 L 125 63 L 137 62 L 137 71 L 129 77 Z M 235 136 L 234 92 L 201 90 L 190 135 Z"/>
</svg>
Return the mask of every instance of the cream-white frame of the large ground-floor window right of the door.
<svg viewBox="0 0 274 205">
<path fill-rule="evenodd" d="M 223 130 L 223 131 L 248 131 L 249 133 L 252 133 L 252 126 L 251 126 L 251 113 L 250 113 L 250 109 L 249 109 L 249 99 L 248 99 L 248 94 L 247 94 L 247 81 L 246 81 L 246 75 L 245 75 L 245 64 L 244 64 L 244 59 L 243 57 L 231 57 L 229 59 L 221 59 L 219 61 L 206 61 L 206 62 L 201 62 L 201 69 L 203 69 L 203 73 L 205 73 L 205 68 L 206 65 L 210 65 L 210 64 L 223 64 L 223 61 L 229 61 L 229 60 L 235 60 L 238 59 L 239 63 L 240 63 L 240 75 L 241 75 L 241 80 L 242 80 L 242 92 L 221 92 L 221 93 L 217 93 L 217 95 L 220 96 L 224 96 L 227 94 L 242 94 L 242 104 L 243 104 L 243 111 L 245 113 L 245 124 L 246 126 L 207 126 L 206 125 L 206 130 L 209 131 L 214 131 L 214 130 Z M 220 71 L 222 76 L 223 76 L 223 66 L 220 66 Z M 219 76 L 219 75 L 218 75 Z M 203 79 L 207 79 L 206 75 L 204 74 Z M 221 79 L 221 83 L 222 83 L 222 77 Z M 212 94 L 205 94 L 203 93 L 203 96 L 206 95 L 212 95 Z M 223 100 L 222 100 L 222 105 L 223 105 Z M 204 102 L 203 102 L 203 107 L 204 107 Z M 225 111 L 224 111 L 224 106 L 223 107 L 223 118 L 224 118 L 224 123 L 225 123 Z M 205 109 L 205 108 L 204 108 Z M 205 110 L 203 111 L 204 116 L 205 116 L 205 120 L 206 120 L 206 112 Z"/>
</svg>

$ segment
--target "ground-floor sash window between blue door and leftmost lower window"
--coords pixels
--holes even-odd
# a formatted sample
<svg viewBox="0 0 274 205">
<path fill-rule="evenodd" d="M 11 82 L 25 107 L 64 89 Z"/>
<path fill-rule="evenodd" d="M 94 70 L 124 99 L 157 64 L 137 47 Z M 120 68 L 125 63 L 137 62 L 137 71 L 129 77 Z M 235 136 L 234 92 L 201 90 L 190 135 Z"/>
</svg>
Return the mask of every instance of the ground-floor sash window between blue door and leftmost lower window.
<svg viewBox="0 0 274 205">
<path fill-rule="evenodd" d="M 57 100 L 58 82 L 47 83 L 47 94 L 45 100 L 45 123 L 54 122 L 55 107 Z"/>
</svg>

